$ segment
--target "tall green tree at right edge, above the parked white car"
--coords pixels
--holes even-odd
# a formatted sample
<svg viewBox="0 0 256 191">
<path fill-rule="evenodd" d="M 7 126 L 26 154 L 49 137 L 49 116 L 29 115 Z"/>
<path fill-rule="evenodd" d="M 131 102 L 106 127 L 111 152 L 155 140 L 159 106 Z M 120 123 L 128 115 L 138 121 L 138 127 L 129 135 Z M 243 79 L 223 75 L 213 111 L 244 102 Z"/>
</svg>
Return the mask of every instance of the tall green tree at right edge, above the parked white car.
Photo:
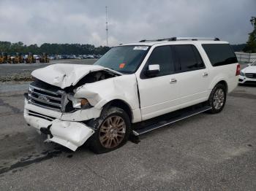
<svg viewBox="0 0 256 191">
<path fill-rule="evenodd" d="M 244 52 L 256 52 L 256 17 L 252 17 L 250 22 L 253 26 L 253 31 L 249 33 L 248 41 L 246 42 L 246 46 L 244 47 Z"/>
</svg>

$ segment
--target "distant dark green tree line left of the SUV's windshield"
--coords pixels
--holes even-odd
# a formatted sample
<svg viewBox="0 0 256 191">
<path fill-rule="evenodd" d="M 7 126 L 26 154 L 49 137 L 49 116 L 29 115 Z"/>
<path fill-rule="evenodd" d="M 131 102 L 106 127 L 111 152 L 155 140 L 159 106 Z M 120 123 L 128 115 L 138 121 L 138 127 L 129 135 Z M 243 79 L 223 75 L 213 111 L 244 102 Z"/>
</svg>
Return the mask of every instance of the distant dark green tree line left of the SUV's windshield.
<svg viewBox="0 0 256 191">
<path fill-rule="evenodd" d="M 110 47 L 95 47 L 92 44 L 44 43 L 41 46 L 37 46 L 37 44 L 27 46 L 23 42 L 0 42 L 0 53 L 7 52 L 9 55 L 15 55 L 16 52 L 22 54 L 32 52 L 36 55 L 41 55 L 43 52 L 47 52 L 48 55 L 104 55 L 108 50 Z"/>
</svg>

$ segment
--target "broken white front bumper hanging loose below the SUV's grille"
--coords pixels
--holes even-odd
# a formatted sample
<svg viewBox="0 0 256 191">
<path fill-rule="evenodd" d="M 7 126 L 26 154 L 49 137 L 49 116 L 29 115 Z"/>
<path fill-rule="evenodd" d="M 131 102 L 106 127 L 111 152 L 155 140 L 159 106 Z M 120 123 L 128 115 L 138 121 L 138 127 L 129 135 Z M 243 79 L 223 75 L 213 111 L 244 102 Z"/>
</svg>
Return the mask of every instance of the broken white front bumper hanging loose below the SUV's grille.
<svg viewBox="0 0 256 191">
<path fill-rule="evenodd" d="M 25 99 L 24 118 L 28 125 L 39 132 L 47 131 L 49 141 L 56 142 L 75 151 L 94 133 L 92 128 L 82 122 L 54 119 L 33 111 L 33 106 Z M 32 108 L 32 109 L 31 109 Z"/>
</svg>

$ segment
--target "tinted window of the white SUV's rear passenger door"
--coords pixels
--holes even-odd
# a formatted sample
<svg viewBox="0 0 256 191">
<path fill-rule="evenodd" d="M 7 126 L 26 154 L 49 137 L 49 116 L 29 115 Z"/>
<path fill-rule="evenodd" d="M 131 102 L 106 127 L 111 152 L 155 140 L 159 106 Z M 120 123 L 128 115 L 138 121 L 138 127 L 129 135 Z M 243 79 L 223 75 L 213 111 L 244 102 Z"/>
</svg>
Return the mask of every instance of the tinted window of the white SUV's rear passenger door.
<svg viewBox="0 0 256 191">
<path fill-rule="evenodd" d="M 192 71 L 203 69 L 205 65 L 196 47 L 191 44 L 174 45 L 178 61 L 177 71 Z"/>
</svg>

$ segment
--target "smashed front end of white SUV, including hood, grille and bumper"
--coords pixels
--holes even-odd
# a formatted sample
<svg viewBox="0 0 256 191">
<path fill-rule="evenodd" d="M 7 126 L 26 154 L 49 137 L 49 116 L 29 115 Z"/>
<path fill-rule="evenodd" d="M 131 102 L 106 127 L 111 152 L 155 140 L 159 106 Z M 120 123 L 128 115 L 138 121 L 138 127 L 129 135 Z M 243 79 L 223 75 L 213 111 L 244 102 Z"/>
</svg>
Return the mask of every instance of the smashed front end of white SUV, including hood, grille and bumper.
<svg viewBox="0 0 256 191">
<path fill-rule="evenodd" d="M 78 87 L 121 74 L 101 66 L 56 65 L 32 72 L 36 79 L 25 95 L 24 118 L 28 125 L 48 134 L 48 141 L 75 151 L 94 133 L 86 122 L 102 111 L 77 96 Z"/>
</svg>

